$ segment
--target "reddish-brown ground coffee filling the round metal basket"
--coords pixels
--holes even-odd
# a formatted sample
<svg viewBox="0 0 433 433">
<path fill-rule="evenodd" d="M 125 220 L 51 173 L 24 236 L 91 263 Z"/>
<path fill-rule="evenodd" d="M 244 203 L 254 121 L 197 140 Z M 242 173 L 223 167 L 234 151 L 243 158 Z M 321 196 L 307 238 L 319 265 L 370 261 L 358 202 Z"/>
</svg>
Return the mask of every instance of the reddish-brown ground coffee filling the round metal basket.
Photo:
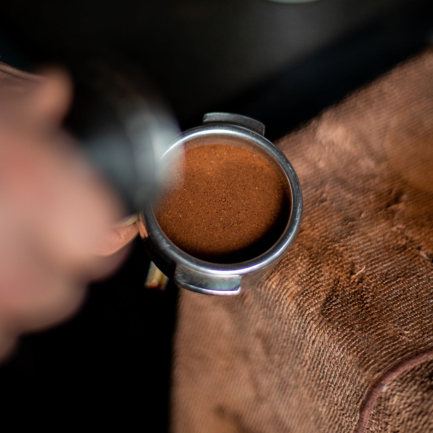
<svg viewBox="0 0 433 433">
<path fill-rule="evenodd" d="M 210 262 L 242 262 L 267 250 L 284 231 L 290 203 L 281 178 L 246 149 L 192 147 L 171 164 L 167 179 L 155 216 L 188 254 Z"/>
</svg>

